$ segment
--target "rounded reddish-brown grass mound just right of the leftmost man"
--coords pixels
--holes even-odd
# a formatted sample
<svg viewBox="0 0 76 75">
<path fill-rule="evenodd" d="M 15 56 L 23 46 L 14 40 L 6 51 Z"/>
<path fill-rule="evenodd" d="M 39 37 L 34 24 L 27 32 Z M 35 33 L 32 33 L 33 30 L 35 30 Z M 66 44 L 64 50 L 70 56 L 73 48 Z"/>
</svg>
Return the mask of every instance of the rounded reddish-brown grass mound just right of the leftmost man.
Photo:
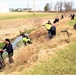
<svg viewBox="0 0 76 75">
<path fill-rule="evenodd" d="M 35 49 L 36 47 L 33 45 L 21 48 L 15 56 L 15 63 L 18 63 L 17 65 L 23 65 L 24 63 L 27 64 L 28 60 L 30 60 L 30 58 L 37 53 L 37 50 Z"/>
</svg>

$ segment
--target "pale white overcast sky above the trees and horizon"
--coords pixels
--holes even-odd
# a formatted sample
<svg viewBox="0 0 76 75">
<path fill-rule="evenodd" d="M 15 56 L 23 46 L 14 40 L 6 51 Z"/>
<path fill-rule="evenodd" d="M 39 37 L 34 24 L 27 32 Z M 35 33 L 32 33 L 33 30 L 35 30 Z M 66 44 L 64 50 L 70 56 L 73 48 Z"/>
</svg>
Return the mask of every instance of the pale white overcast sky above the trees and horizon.
<svg viewBox="0 0 76 75">
<path fill-rule="evenodd" d="M 76 6 L 75 0 L 34 0 L 35 10 L 44 10 L 46 3 L 52 3 L 53 5 L 57 1 L 73 1 Z M 6 3 L 10 8 L 33 8 L 33 0 L 0 0 L 0 3 Z"/>
</svg>

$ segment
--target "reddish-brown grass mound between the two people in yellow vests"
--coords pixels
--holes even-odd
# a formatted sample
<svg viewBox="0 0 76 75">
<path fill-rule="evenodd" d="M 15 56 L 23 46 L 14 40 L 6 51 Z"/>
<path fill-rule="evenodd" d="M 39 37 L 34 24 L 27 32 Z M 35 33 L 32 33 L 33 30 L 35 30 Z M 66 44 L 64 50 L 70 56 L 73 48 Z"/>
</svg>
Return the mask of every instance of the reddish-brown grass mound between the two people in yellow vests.
<svg viewBox="0 0 76 75">
<path fill-rule="evenodd" d="M 36 40 L 37 42 L 43 42 L 45 39 L 48 39 L 48 33 L 45 27 L 40 27 L 39 29 L 33 31 L 29 36 L 32 40 Z"/>
</svg>

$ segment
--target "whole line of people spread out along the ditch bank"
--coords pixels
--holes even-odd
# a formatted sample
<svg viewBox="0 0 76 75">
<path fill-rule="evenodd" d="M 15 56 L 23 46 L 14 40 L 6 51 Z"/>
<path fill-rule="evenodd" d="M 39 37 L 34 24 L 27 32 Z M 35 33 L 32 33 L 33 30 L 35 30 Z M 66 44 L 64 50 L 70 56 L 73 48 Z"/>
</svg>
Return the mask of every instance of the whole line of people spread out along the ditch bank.
<svg viewBox="0 0 76 75">
<path fill-rule="evenodd" d="M 71 15 L 71 19 L 74 19 L 74 14 Z M 63 19 L 63 15 L 61 15 L 61 19 Z M 55 18 L 55 21 L 53 23 L 59 22 L 59 18 Z M 53 25 L 50 20 L 48 21 L 48 23 L 46 23 L 45 25 L 43 25 L 46 27 L 47 31 L 48 31 L 48 38 L 53 38 L 54 36 L 56 36 L 56 26 Z M 76 24 L 74 25 L 74 28 L 76 29 Z M 24 42 L 24 45 L 27 44 L 32 44 L 30 38 L 28 38 L 28 36 L 26 36 L 25 34 L 21 34 L 22 36 L 22 41 Z M 9 58 L 9 63 L 13 63 L 14 60 L 12 58 L 13 56 L 13 46 L 10 42 L 10 40 L 8 38 L 5 39 L 5 46 L 2 48 L 2 50 L 0 50 L 0 57 L 4 60 L 3 58 L 3 52 L 7 52 L 8 53 L 8 58 Z"/>
</svg>

